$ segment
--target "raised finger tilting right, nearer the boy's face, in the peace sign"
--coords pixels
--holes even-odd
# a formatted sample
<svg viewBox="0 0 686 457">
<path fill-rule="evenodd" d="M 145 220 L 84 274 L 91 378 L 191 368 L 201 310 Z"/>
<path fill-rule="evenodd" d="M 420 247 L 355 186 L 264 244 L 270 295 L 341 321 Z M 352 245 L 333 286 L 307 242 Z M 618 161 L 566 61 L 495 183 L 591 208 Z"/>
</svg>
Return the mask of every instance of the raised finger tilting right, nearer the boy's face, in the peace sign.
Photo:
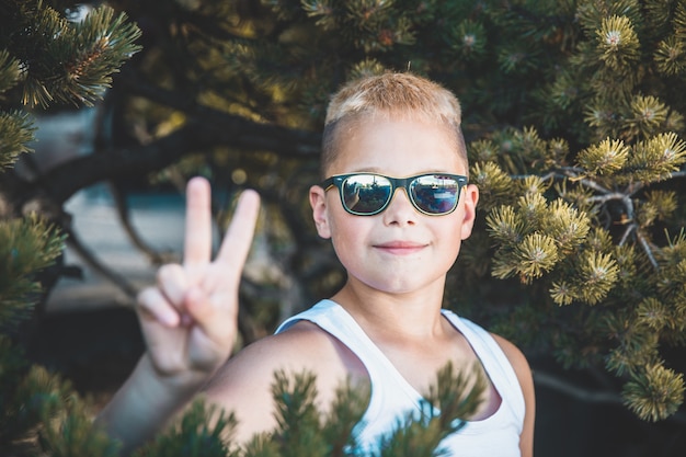
<svg viewBox="0 0 686 457">
<path fill-rule="evenodd" d="M 248 252 L 250 252 L 259 214 L 260 195 L 252 190 L 243 191 L 219 248 L 217 262 L 235 265 L 239 270 L 242 269 Z"/>
</svg>

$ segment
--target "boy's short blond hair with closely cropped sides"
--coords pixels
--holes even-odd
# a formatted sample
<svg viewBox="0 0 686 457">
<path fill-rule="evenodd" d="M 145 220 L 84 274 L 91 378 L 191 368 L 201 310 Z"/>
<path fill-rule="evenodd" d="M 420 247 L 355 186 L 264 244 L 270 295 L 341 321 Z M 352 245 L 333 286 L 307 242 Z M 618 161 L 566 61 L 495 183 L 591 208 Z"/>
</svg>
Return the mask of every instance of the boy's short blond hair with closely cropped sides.
<svg viewBox="0 0 686 457">
<path fill-rule="evenodd" d="M 322 174 L 335 160 L 340 135 L 365 116 L 384 116 L 443 124 L 455 136 L 457 153 L 467 163 L 461 108 L 449 90 L 409 72 L 364 77 L 344 84 L 331 99 L 324 121 Z"/>
</svg>

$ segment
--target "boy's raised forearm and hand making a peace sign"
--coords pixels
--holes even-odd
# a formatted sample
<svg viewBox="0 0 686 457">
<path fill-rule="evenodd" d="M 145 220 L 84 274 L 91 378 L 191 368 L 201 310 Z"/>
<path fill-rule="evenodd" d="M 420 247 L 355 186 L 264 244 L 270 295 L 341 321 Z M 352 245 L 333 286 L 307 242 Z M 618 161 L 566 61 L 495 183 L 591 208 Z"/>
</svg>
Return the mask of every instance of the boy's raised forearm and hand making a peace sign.
<svg viewBox="0 0 686 457">
<path fill-rule="evenodd" d="M 188 182 L 183 265 L 165 265 L 138 297 L 147 351 L 95 419 L 124 453 L 155 435 L 229 357 L 237 334 L 238 287 L 259 213 L 244 192 L 211 261 L 209 184 Z"/>
</svg>

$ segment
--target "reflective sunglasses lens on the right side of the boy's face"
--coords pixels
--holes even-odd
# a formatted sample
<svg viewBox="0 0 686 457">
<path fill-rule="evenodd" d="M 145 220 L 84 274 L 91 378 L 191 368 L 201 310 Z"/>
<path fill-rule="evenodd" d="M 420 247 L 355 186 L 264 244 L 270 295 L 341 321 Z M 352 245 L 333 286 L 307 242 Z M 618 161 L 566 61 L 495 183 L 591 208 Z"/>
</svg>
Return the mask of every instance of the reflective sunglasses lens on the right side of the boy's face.
<svg viewBox="0 0 686 457">
<path fill-rule="evenodd" d="M 459 183 L 451 176 L 420 176 L 412 181 L 410 188 L 416 206 L 428 214 L 450 213 L 459 198 Z"/>
</svg>

